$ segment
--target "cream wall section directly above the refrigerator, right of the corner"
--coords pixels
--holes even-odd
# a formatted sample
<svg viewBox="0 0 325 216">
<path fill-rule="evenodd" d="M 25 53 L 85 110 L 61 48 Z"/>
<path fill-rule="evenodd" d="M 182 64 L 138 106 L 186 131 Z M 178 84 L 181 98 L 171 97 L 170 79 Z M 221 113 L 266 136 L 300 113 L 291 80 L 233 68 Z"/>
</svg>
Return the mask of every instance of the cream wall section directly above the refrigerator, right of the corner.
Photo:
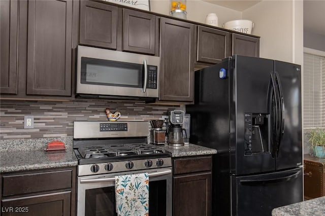
<svg viewBox="0 0 325 216">
<path fill-rule="evenodd" d="M 259 55 L 303 64 L 303 1 L 262 1 L 243 11 L 261 36 Z"/>
</svg>

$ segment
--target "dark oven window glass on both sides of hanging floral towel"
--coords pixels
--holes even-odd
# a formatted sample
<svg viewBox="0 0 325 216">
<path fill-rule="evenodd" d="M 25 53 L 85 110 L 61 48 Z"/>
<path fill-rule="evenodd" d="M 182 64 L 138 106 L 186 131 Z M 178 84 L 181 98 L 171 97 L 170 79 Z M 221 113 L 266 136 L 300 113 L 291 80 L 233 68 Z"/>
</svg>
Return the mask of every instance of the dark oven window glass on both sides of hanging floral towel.
<svg viewBox="0 0 325 216">
<path fill-rule="evenodd" d="M 96 188 L 85 192 L 85 216 L 116 216 L 115 188 Z M 149 182 L 149 215 L 167 215 L 167 181 Z"/>
</svg>

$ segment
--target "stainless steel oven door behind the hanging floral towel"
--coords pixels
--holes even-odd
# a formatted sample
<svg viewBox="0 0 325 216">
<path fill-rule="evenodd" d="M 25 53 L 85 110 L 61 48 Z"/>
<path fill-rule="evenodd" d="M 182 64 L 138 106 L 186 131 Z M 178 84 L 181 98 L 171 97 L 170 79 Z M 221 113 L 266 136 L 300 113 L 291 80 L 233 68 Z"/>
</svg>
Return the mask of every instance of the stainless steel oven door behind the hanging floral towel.
<svg viewBox="0 0 325 216">
<path fill-rule="evenodd" d="M 117 215 L 115 175 L 149 174 L 149 215 L 172 216 L 172 168 L 78 177 L 78 216 Z"/>
</svg>

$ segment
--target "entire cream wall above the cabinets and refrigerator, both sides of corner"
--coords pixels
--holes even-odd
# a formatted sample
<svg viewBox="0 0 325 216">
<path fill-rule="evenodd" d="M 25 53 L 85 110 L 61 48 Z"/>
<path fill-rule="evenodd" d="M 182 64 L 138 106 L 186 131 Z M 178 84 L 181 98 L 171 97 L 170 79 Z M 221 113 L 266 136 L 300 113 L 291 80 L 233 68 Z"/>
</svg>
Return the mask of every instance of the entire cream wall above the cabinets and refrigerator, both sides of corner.
<svg viewBox="0 0 325 216">
<path fill-rule="evenodd" d="M 169 15 L 170 1 L 150 1 L 151 11 Z M 216 13 L 219 27 L 236 19 L 255 24 L 252 34 L 260 39 L 260 56 L 303 64 L 303 1 L 262 1 L 243 12 L 199 0 L 187 1 L 187 19 L 205 23 L 208 13 Z"/>
</svg>

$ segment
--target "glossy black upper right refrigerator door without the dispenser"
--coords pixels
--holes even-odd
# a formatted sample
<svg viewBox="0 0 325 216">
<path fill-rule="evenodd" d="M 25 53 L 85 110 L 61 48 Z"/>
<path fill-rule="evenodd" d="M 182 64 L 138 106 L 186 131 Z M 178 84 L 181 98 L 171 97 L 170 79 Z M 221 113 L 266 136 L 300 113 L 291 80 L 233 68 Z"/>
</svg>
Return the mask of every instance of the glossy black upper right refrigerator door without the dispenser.
<svg viewBox="0 0 325 216">
<path fill-rule="evenodd" d="M 302 165 L 301 67 L 275 61 L 275 77 L 282 98 L 276 169 Z"/>
</svg>

